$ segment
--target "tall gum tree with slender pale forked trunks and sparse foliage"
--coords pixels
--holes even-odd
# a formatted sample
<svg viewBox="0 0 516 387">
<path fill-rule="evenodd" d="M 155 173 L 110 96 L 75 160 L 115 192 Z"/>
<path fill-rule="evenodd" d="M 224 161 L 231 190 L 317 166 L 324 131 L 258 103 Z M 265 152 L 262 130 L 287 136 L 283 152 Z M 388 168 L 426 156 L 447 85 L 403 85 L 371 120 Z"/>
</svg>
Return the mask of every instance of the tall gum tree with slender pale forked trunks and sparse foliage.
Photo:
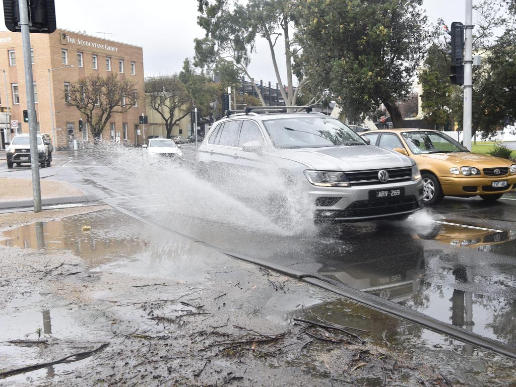
<svg viewBox="0 0 516 387">
<path fill-rule="evenodd" d="M 220 67 L 221 63 L 231 63 L 238 74 L 245 74 L 251 80 L 261 104 L 265 106 L 263 95 L 248 71 L 256 40 L 263 38 L 269 46 L 269 55 L 281 96 L 287 106 L 296 105 L 298 94 L 308 84 L 309 79 L 299 70 L 300 47 L 291 37 L 295 22 L 292 12 L 293 2 L 291 0 L 249 0 L 245 3 L 223 0 L 198 1 L 200 12 L 198 24 L 204 28 L 206 36 L 195 40 L 195 65 L 204 69 L 213 69 Z M 276 52 L 279 39 L 282 39 L 285 45 L 285 51 L 281 57 Z M 285 86 L 280 75 L 280 61 L 283 61 L 286 72 Z M 294 74 L 300 79 L 295 89 Z"/>
</svg>

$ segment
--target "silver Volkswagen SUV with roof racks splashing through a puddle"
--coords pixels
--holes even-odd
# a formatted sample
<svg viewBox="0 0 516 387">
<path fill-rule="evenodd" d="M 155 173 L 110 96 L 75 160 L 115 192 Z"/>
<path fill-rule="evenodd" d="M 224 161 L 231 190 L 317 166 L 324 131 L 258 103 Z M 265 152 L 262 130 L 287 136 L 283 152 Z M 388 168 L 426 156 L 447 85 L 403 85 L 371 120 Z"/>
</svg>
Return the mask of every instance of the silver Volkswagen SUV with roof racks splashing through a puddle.
<svg viewBox="0 0 516 387">
<path fill-rule="evenodd" d="M 237 185 L 264 190 L 265 180 L 248 179 L 251 173 L 272 179 L 271 170 L 279 170 L 292 194 L 309 198 L 316 221 L 405 219 L 422 207 L 423 183 L 411 158 L 369 145 L 310 107 L 270 110 L 246 108 L 215 122 L 199 146 L 197 171 L 216 181 L 233 175 L 238 194 Z"/>
</svg>

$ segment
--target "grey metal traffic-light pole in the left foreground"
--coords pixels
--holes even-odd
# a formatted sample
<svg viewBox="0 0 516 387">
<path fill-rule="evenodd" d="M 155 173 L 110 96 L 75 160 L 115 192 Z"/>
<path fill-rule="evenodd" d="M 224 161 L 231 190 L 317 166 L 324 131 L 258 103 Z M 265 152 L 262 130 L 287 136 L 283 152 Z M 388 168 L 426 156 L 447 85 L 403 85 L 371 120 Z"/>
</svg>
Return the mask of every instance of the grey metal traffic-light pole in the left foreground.
<svg viewBox="0 0 516 387">
<path fill-rule="evenodd" d="M 25 91 L 30 135 L 30 166 L 33 178 L 34 212 L 41 212 L 41 187 L 39 180 L 38 135 L 36 132 L 36 108 L 34 106 L 34 80 L 32 60 L 30 59 L 30 34 L 27 2 L 18 2 L 20 6 L 20 27 L 22 30 L 23 64 L 25 70 Z M 46 160 L 45 160 L 46 161 Z"/>
</svg>

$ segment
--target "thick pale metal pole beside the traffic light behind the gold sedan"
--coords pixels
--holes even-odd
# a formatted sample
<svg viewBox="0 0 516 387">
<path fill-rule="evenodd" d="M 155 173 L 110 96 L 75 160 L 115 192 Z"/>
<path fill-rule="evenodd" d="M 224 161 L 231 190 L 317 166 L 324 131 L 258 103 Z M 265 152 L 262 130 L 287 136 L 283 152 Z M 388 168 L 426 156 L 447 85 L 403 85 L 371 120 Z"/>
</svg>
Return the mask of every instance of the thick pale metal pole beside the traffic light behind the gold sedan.
<svg viewBox="0 0 516 387">
<path fill-rule="evenodd" d="M 473 0 L 466 0 L 466 20 L 464 31 L 464 147 L 471 151 L 471 110 L 473 99 Z"/>
</svg>

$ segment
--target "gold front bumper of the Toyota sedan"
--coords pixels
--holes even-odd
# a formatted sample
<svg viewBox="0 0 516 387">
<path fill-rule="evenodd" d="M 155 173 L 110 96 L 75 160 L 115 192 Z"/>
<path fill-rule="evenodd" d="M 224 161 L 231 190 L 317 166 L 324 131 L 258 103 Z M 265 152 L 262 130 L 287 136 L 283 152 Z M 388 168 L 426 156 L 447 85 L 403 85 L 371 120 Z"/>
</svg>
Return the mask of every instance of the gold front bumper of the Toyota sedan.
<svg viewBox="0 0 516 387">
<path fill-rule="evenodd" d="M 516 188 L 516 175 L 509 174 L 505 176 L 494 177 L 472 177 L 472 176 L 457 176 L 439 178 L 443 188 L 443 194 L 447 196 L 476 196 L 489 195 L 490 193 L 503 193 Z M 505 187 L 492 187 L 492 182 L 507 182 Z"/>
</svg>

